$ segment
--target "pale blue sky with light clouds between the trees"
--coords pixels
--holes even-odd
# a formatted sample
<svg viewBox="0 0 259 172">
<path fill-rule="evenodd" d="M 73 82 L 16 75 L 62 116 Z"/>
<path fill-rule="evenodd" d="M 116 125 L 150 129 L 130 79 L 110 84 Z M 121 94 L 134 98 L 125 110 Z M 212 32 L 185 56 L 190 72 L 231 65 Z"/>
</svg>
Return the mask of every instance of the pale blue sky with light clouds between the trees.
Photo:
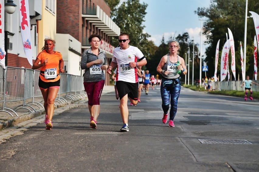
<svg viewBox="0 0 259 172">
<path fill-rule="evenodd" d="M 151 35 L 148 39 L 154 41 L 155 45 L 161 44 L 163 35 L 167 42 L 171 35 L 177 37 L 188 32 L 190 41 L 194 38 L 194 42 L 200 46 L 201 21 L 194 11 L 199 7 L 208 8 L 210 0 L 140 0 L 140 3 L 143 2 L 148 4 L 143 32 Z M 202 55 L 207 47 L 203 43 L 205 39 L 205 35 L 202 35 Z"/>
</svg>

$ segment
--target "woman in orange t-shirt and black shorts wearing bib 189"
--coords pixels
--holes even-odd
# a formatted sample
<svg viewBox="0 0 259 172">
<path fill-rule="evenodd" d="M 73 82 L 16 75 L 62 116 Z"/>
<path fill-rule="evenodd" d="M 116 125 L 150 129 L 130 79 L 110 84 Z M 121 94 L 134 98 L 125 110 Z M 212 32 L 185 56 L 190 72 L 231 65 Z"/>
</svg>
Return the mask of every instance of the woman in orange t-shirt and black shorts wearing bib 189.
<svg viewBox="0 0 259 172">
<path fill-rule="evenodd" d="M 44 46 L 37 55 L 32 69 L 40 68 L 39 87 L 44 99 L 46 130 L 53 127 L 54 100 L 60 87 L 60 75 L 63 73 L 64 62 L 58 51 L 53 51 L 56 41 L 51 38 L 44 39 Z M 40 64 L 39 64 L 40 63 Z"/>
</svg>

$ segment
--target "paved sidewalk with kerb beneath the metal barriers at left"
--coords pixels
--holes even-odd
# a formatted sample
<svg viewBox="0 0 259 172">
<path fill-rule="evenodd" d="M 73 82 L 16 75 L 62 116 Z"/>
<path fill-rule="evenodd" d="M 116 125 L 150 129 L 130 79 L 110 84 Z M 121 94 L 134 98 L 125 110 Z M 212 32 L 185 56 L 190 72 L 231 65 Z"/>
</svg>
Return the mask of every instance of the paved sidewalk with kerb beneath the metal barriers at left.
<svg viewBox="0 0 259 172">
<path fill-rule="evenodd" d="M 102 94 L 109 93 L 109 92 L 112 92 L 112 91 L 114 91 L 113 85 L 112 86 L 104 86 Z M 28 102 L 26 102 L 26 103 L 29 103 L 30 101 L 31 101 L 31 99 L 29 99 Z M 34 101 L 40 102 L 43 105 L 43 98 L 42 97 L 35 98 Z M 55 101 L 56 105 L 54 105 L 54 108 L 55 108 L 54 113 L 58 108 L 61 108 L 61 107 L 67 106 L 67 105 L 71 105 L 70 108 L 74 108 L 75 106 L 77 106 L 77 104 L 82 103 L 82 102 L 87 102 L 87 101 L 88 101 L 87 97 L 77 98 L 77 99 L 74 99 L 74 100 L 67 100 L 67 103 L 60 103 L 60 102 Z M 7 102 L 5 104 L 5 108 L 13 109 L 13 108 L 16 108 L 17 106 L 22 105 L 22 104 L 23 104 L 23 101 Z M 36 106 L 33 106 L 33 108 L 36 109 L 36 112 L 34 112 L 32 109 L 31 110 L 33 112 L 29 112 L 27 109 L 19 109 L 16 112 L 19 117 L 17 117 L 13 112 L 11 112 L 9 110 L 7 110 L 7 111 L 11 112 L 13 117 L 10 114 L 8 114 L 7 112 L 0 111 L 0 130 L 3 130 L 7 127 L 19 124 L 23 121 L 27 121 L 27 120 L 30 120 L 34 117 L 45 114 L 45 110 L 43 108 L 38 108 Z M 1 110 L 2 109 L 3 109 L 3 105 L 1 107 Z"/>
</svg>

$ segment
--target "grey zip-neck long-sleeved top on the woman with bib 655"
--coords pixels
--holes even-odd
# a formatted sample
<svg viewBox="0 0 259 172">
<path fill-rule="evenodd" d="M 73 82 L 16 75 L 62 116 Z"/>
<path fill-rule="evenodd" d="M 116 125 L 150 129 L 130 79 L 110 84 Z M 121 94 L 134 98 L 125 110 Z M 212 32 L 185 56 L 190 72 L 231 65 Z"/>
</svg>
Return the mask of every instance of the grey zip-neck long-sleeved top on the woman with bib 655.
<svg viewBox="0 0 259 172">
<path fill-rule="evenodd" d="M 97 82 L 97 81 L 105 80 L 104 71 L 102 71 L 102 74 L 90 74 L 90 68 L 87 68 L 86 64 L 91 61 L 101 59 L 102 64 L 100 65 L 107 65 L 106 54 L 104 51 L 99 49 L 100 52 L 97 57 L 97 55 L 93 54 L 91 50 L 92 50 L 91 48 L 85 50 L 81 58 L 81 63 L 80 63 L 81 69 L 85 69 L 84 82 Z"/>
</svg>

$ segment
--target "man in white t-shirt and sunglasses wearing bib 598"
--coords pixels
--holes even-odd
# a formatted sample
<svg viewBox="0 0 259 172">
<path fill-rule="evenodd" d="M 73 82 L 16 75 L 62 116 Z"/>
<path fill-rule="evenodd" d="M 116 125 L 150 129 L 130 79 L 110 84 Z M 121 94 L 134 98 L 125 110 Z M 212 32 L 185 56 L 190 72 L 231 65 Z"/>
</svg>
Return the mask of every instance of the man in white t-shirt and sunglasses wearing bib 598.
<svg viewBox="0 0 259 172">
<path fill-rule="evenodd" d="M 108 74 L 112 74 L 112 68 L 117 67 L 116 87 L 120 98 L 120 113 L 123 121 L 121 132 L 129 131 L 128 126 L 128 97 L 130 103 L 138 103 L 138 75 L 137 66 L 147 64 L 143 53 L 134 46 L 129 45 L 130 39 L 127 33 L 119 35 L 119 45 L 113 50 L 113 57 L 110 66 L 107 69 Z M 139 62 L 137 62 L 139 60 Z"/>
</svg>

